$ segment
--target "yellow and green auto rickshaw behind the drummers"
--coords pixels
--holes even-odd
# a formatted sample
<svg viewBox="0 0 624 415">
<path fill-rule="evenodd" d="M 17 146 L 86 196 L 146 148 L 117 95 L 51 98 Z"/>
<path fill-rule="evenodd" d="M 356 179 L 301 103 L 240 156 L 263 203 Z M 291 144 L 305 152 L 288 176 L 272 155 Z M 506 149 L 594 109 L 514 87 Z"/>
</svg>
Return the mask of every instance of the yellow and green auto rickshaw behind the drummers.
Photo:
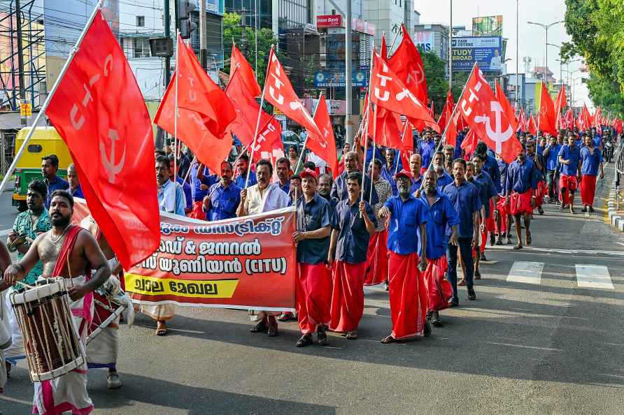
<svg viewBox="0 0 624 415">
<path fill-rule="evenodd" d="M 15 138 L 15 153 L 22 147 L 24 138 L 28 135 L 31 127 L 24 127 L 17 133 Z M 26 150 L 15 167 L 15 189 L 13 190 L 13 206 L 24 212 L 27 210 L 26 193 L 28 184 L 34 179 L 41 179 L 41 158 L 49 154 L 56 154 L 59 158 L 59 170 L 57 175 L 66 180 L 67 166 L 71 161 L 71 154 L 67 145 L 52 126 L 37 127 L 28 142 Z"/>
</svg>

